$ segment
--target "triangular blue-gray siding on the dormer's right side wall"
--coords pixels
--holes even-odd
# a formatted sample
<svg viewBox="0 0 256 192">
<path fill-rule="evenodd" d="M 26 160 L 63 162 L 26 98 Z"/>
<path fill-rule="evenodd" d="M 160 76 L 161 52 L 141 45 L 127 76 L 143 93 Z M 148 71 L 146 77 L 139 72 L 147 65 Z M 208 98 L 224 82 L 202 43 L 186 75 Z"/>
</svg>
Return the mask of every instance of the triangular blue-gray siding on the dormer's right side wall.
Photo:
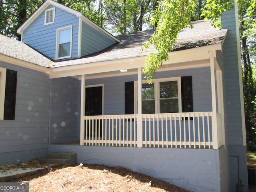
<svg viewBox="0 0 256 192">
<path fill-rule="evenodd" d="M 101 51 L 115 42 L 82 22 L 81 56 Z"/>
</svg>

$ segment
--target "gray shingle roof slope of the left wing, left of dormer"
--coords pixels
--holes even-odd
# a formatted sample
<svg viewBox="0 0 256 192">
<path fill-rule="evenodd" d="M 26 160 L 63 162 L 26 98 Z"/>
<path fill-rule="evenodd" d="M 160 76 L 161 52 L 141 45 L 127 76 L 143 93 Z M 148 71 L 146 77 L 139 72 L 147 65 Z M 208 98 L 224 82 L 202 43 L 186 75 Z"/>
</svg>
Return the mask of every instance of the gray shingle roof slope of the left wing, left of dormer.
<svg viewBox="0 0 256 192">
<path fill-rule="evenodd" d="M 49 67 L 52 61 L 23 42 L 0 34 L 0 54 Z"/>
</svg>

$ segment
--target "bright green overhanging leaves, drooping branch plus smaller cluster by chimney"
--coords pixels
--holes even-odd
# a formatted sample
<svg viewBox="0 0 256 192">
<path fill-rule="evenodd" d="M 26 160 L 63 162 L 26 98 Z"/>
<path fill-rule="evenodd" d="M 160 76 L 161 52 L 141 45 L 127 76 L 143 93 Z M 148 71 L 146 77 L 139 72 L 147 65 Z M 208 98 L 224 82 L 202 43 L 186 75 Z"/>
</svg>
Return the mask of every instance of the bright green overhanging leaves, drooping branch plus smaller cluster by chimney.
<svg viewBox="0 0 256 192">
<path fill-rule="evenodd" d="M 195 13 L 196 0 L 162 0 L 154 10 L 150 25 L 156 27 L 156 31 L 149 41 L 142 44 L 141 49 L 149 48 L 154 44 L 156 52 L 150 53 L 146 58 L 143 73 L 146 74 L 148 83 L 152 83 L 152 74 L 156 74 L 157 68 L 163 61 L 168 60 L 169 52 L 173 50 L 178 33 L 186 28 L 192 21 Z M 229 0 L 206 0 L 202 15 L 211 19 L 214 26 L 220 26 L 219 17 L 222 12 L 232 8 Z M 193 26 L 190 24 L 190 27 Z"/>
</svg>

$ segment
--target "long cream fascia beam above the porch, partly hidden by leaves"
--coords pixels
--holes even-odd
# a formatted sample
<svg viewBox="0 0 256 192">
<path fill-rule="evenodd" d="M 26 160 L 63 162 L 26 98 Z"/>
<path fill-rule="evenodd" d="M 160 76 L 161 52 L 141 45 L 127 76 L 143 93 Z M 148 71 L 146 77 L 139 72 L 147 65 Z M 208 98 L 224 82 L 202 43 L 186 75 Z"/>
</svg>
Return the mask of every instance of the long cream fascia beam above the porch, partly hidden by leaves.
<svg viewBox="0 0 256 192">
<path fill-rule="evenodd" d="M 212 57 L 212 52 L 221 49 L 220 45 L 210 45 L 200 48 L 193 48 L 189 50 L 180 50 L 175 52 L 170 52 L 169 60 L 163 62 L 163 68 L 165 65 L 172 69 L 185 69 L 185 68 L 194 68 L 208 66 L 205 63 L 206 60 Z M 50 78 L 59 78 L 66 76 L 78 76 L 83 74 L 98 74 L 103 72 L 112 72 L 121 69 L 134 69 L 134 68 L 143 68 L 145 63 L 146 56 L 140 56 L 135 58 L 126 58 L 120 60 L 109 60 L 102 62 L 78 64 L 72 66 L 62 66 L 57 68 L 50 69 Z M 195 62 L 194 61 L 204 61 Z M 186 64 L 181 64 L 186 63 Z"/>
</svg>

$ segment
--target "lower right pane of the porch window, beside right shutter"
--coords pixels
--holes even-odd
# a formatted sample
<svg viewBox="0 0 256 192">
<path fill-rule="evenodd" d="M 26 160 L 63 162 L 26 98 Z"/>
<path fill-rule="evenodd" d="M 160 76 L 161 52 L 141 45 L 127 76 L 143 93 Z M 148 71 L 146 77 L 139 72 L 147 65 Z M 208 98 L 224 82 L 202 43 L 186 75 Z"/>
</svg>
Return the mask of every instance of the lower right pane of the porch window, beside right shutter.
<svg viewBox="0 0 256 192">
<path fill-rule="evenodd" d="M 160 113 L 178 113 L 179 105 L 178 99 L 161 99 Z"/>
</svg>

